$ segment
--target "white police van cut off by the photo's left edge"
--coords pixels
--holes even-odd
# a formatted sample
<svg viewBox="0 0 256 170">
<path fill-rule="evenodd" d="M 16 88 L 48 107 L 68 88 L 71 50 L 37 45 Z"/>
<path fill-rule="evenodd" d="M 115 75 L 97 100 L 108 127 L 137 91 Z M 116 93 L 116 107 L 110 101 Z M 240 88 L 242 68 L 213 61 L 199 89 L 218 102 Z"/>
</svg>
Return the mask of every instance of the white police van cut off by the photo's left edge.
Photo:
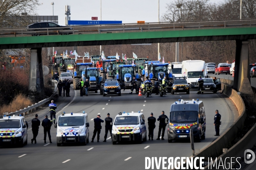
<svg viewBox="0 0 256 170">
<path fill-rule="evenodd" d="M 23 147 L 27 141 L 27 127 L 23 116 L 0 116 L 0 146 L 17 145 Z"/>
</svg>

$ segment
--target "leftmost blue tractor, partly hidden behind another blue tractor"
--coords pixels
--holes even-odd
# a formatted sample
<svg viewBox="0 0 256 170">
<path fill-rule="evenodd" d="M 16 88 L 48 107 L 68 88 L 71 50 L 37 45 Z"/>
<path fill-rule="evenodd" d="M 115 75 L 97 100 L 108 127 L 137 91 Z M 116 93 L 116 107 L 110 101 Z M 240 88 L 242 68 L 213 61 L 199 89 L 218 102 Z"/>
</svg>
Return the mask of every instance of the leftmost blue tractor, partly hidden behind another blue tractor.
<svg viewBox="0 0 256 170">
<path fill-rule="evenodd" d="M 84 79 L 85 75 L 85 70 L 86 68 L 91 68 L 93 67 L 93 63 L 91 62 L 86 62 L 86 63 L 76 63 L 75 69 L 74 69 L 74 76 L 73 76 L 73 85 L 75 90 L 79 90 L 79 82 L 80 79 Z"/>
</svg>

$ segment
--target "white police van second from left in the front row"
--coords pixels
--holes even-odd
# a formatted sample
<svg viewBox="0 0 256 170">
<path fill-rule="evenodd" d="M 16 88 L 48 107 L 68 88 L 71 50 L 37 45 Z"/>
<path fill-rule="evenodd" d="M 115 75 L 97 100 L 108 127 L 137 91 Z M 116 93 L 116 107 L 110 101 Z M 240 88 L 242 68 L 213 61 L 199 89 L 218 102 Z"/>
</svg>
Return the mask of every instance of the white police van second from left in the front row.
<svg viewBox="0 0 256 170">
<path fill-rule="evenodd" d="M 57 146 L 67 143 L 86 145 L 89 143 L 89 121 L 87 113 L 65 113 L 58 116 Z"/>
</svg>

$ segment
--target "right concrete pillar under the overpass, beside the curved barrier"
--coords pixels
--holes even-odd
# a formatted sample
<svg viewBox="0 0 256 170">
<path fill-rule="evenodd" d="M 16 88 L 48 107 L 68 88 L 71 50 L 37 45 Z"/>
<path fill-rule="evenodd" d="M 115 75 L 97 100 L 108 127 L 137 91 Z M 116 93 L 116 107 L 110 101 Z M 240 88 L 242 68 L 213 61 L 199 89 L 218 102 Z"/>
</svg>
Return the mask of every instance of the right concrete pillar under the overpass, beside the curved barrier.
<svg viewBox="0 0 256 170">
<path fill-rule="evenodd" d="M 248 41 L 236 40 L 236 63 L 233 88 L 241 94 L 253 94 L 250 85 Z"/>
</svg>

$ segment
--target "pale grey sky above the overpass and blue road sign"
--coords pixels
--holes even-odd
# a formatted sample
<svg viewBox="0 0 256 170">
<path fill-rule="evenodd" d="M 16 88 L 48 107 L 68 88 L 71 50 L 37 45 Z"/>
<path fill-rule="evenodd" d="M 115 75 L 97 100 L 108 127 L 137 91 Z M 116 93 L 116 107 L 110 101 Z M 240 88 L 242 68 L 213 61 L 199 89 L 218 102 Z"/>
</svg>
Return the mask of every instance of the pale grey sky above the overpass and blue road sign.
<svg viewBox="0 0 256 170">
<path fill-rule="evenodd" d="M 223 0 L 209 0 L 218 3 Z M 39 0 L 41 6 L 35 11 L 38 15 L 58 15 L 58 24 L 65 25 L 65 6 L 70 6 L 70 20 L 100 20 L 101 0 Z M 160 18 L 166 13 L 166 4 L 172 0 L 160 0 Z M 158 0 L 102 0 L 102 20 L 122 21 L 122 23 L 158 22 Z"/>
</svg>

